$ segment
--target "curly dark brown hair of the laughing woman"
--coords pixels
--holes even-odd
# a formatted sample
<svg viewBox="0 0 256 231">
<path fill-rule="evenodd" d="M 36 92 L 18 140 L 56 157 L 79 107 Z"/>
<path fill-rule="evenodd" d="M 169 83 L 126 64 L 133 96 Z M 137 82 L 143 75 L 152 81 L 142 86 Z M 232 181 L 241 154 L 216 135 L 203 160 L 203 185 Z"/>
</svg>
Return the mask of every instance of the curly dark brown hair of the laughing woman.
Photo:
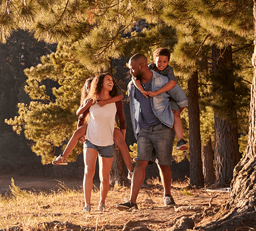
<svg viewBox="0 0 256 231">
<path fill-rule="evenodd" d="M 102 73 L 102 74 L 96 75 L 93 79 L 93 82 L 91 82 L 90 93 L 88 97 L 91 98 L 94 102 L 96 102 L 99 99 L 99 95 L 103 88 L 103 80 L 106 75 L 110 75 L 112 77 L 110 73 Z M 113 80 L 114 86 L 112 90 L 109 92 L 109 94 L 112 97 L 114 97 L 120 94 L 121 91 L 120 91 L 120 87 L 117 85 L 113 77 L 112 77 L 112 80 Z"/>
</svg>

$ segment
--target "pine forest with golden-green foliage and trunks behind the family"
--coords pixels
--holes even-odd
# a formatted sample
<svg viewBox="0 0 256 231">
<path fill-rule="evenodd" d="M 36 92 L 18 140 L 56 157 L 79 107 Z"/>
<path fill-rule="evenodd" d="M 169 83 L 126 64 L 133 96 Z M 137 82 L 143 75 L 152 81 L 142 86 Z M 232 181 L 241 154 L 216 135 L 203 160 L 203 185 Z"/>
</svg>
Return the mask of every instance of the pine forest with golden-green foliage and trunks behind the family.
<svg viewBox="0 0 256 231">
<path fill-rule="evenodd" d="M 0 171 L 42 174 L 40 161 L 52 162 L 76 129 L 85 80 L 110 71 L 125 94 L 128 58 L 141 52 L 152 62 L 153 50 L 168 47 L 189 101 L 182 121 L 190 150 L 175 152 L 174 159 L 190 160 L 192 185 L 229 185 L 247 146 L 253 3 L 60 3 L 18 2 L 19 17 L 11 2 L 1 5 Z M 18 28 L 27 31 L 11 36 Z M 129 122 L 128 109 L 125 113 Z M 135 142 L 130 128 L 128 146 Z M 40 158 L 31 158 L 31 150 Z M 69 161 L 80 152 L 77 145 Z M 62 171 L 44 169 L 44 174 Z M 63 171 L 74 175 L 74 169 Z"/>
</svg>

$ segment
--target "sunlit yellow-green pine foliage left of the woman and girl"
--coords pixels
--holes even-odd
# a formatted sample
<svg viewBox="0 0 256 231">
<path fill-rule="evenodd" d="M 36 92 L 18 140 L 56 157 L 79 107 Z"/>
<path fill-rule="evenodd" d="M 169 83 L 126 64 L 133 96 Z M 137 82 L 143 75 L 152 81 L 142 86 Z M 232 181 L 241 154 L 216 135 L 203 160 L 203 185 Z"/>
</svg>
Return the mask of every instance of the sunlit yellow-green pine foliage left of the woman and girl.
<svg viewBox="0 0 256 231">
<path fill-rule="evenodd" d="M 76 129 L 76 111 L 79 107 L 80 92 L 89 78 L 83 65 L 72 57 L 71 48 L 59 45 L 57 52 L 42 57 L 42 64 L 26 69 L 28 77 L 25 91 L 35 100 L 26 105 L 18 104 L 19 116 L 5 120 L 17 134 L 24 130 L 26 139 L 32 140 L 31 148 L 42 157 L 42 163 L 50 163 L 56 148 L 65 147 Z M 47 94 L 46 80 L 58 82 Z M 77 146 L 69 160 L 75 160 L 81 147 Z"/>
</svg>

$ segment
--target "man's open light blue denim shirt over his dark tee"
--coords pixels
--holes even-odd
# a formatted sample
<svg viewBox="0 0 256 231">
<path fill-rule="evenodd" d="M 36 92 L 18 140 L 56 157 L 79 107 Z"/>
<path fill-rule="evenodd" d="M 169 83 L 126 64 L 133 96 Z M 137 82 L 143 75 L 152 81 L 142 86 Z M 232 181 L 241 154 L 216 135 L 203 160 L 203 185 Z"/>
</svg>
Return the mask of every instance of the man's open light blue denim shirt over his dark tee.
<svg viewBox="0 0 256 231">
<path fill-rule="evenodd" d="M 151 91 L 157 91 L 162 86 L 169 82 L 167 76 L 158 74 L 155 71 L 152 71 L 152 83 L 151 83 Z M 139 119 L 141 117 L 140 114 L 140 103 L 134 97 L 135 94 L 135 86 L 132 81 L 128 84 L 128 93 L 130 96 L 130 113 L 131 113 L 131 123 L 132 128 L 134 130 L 135 138 L 137 139 L 137 134 L 140 131 L 139 127 Z M 171 111 L 170 106 L 170 91 L 163 92 L 158 94 L 157 96 L 150 97 L 150 102 L 152 106 L 153 113 L 156 117 L 166 126 L 172 128 L 174 123 L 174 116 Z"/>
</svg>

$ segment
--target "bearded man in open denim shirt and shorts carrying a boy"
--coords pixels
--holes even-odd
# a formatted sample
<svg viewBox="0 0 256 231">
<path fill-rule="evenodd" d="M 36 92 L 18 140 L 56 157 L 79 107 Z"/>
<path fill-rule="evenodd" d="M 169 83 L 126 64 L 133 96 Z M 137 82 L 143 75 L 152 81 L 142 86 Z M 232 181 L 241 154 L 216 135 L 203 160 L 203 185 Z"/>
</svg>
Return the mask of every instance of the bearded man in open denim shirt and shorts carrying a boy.
<svg viewBox="0 0 256 231">
<path fill-rule="evenodd" d="M 145 91 L 156 91 L 168 83 L 167 76 L 150 71 L 147 58 L 140 53 L 129 60 L 132 77 L 140 80 Z M 174 116 L 170 107 L 171 92 L 156 97 L 145 97 L 132 83 L 128 84 L 132 128 L 138 140 L 138 156 L 131 183 L 130 200 L 117 205 L 118 210 L 136 207 L 141 184 L 145 179 L 145 170 L 149 161 L 155 161 L 159 168 L 164 189 L 164 205 L 174 206 L 171 196 L 171 155 L 175 131 L 172 129 Z M 177 106 L 177 110 L 178 110 Z"/>
</svg>

